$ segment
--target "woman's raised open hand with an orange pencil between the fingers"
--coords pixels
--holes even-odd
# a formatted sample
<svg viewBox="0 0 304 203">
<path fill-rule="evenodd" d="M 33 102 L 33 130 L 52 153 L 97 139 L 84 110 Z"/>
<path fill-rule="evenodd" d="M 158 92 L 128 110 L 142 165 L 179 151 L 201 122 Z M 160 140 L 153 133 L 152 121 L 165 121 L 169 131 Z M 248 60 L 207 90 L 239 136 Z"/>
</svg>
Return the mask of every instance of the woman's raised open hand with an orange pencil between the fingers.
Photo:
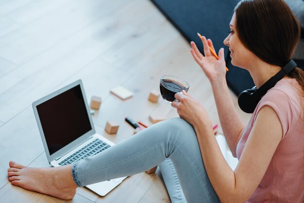
<svg viewBox="0 0 304 203">
<path fill-rule="evenodd" d="M 207 76 L 210 82 L 217 80 L 218 78 L 225 78 L 226 69 L 225 69 L 225 59 L 224 59 L 224 48 L 221 48 L 219 51 L 219 60 L 211 53 L 209 46 L 214 50 L 211 39 L 206 39 L 202 37 L 204 54 L 203 56 L 196 44 L 191 41 L 190 52 L 194 60 L 201 66 L 204 74 Z"/>
</svg>

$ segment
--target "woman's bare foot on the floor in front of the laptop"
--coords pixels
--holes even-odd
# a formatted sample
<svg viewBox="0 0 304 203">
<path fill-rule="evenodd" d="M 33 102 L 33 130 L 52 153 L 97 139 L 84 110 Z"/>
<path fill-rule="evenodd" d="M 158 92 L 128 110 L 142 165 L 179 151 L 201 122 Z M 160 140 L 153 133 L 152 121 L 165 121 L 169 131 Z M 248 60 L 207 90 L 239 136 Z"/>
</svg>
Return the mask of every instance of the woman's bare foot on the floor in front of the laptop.
<svg viewBox="0 0 304 203">
<path fill-rule="evenodd" d="M 71 174 L 72 165 L 34 168 L 10 161 L 9 166 L 7 175 L 12 185 L 63 200 L 70 200 L 75 196 L 78 186 Z"/>
</svg>

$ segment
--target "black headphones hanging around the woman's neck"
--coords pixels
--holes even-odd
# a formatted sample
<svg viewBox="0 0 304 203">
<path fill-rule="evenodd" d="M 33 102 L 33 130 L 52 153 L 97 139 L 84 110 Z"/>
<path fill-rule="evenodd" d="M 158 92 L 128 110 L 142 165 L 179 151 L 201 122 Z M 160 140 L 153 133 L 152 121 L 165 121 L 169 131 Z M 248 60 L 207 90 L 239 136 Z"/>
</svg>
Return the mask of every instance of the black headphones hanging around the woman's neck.
<svg viewBox="0 0 304 203">
<path fill-rule="evenodd" d="M 262 96 L 295 67 L 297 67 L 297 64 L 291 59 L 277 74 L 272 76 L 259 89 L 254 86 L 252 89 L 241 92 L 237 100 L 239 108 L 246 113 L 253 113 Z"/>
</svg>

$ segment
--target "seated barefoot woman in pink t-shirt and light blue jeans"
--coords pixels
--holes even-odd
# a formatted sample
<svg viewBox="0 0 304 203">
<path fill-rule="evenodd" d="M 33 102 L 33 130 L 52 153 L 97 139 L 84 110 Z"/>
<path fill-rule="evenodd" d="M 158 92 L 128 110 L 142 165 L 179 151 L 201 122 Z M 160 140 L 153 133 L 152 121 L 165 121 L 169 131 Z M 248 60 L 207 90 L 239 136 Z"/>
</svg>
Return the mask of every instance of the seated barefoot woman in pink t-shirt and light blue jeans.
<svg viewBox="0 0 304 203">
<path fill-rule="evenodd" d="M 257 88 L 281 70 L 300 38 L 300 26 L 283 0 L 242 0 L 224 44 L 232 64 L 248 70 Z M 96 156 L 68 166 L 30 168 L 10 162 L 12 185 L 71 199 L 78 186 L 145 171 L 172 161 L 188 203 L 304 201 L 304 72 L 295 68 L 259 102 L 245 126 L 234 109 L 219 60 L 202 37 L 204 54 L 191 42 L 208 77 L 235 171 L 224 160 L 203 106 L 186 92 L 172 102 L 181 118 L 155 124 Z M 138 146 L 134 148 L 134 146 Z M 147 159 L 147 157 L 151 157 Z"/>
</svg>

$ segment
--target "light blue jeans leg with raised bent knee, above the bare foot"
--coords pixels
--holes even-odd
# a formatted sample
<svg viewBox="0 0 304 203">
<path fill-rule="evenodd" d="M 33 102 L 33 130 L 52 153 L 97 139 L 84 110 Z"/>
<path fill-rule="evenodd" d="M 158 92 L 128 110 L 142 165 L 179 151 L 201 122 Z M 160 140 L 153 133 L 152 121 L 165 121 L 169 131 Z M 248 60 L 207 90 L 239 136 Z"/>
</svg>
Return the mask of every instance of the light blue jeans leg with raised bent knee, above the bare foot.
<svg viewBox="0 0 304 203">
<path fill-rule="evenodd" d="M 187 203 L 220 203 L 207 176 L 196 133 L 181 118 L 154 124 L 95 156 L 75 163 L 72 176 L 82 187 L 146 171 L 167 158 L 172 162 L 182 188 L 182 191 L 176 191 L 181 195 L 184 193 Z M 182 202 L 182 198 L 177 198 L 177 201 Z M 171 198 L 171 201 L 174 200 Z"/>
</svg>

